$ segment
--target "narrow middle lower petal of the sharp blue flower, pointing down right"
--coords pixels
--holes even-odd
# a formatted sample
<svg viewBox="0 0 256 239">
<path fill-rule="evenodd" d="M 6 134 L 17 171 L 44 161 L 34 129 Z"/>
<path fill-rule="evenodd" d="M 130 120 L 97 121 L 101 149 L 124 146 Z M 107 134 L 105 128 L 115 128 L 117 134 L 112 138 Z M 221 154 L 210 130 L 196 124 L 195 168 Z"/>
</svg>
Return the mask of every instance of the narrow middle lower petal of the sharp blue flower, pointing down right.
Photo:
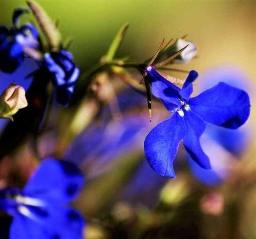
<svg viewBox="0 0 256 239">
<path fill-rule="evenodd" d="M 202 168 L 210 169 L 208 156 L 204 153 L 199 138 L 204 133 L 206 123 L 192 111 L 184 111 L 186 135 L 183 144 L 191 156 Z"/>
</svg>

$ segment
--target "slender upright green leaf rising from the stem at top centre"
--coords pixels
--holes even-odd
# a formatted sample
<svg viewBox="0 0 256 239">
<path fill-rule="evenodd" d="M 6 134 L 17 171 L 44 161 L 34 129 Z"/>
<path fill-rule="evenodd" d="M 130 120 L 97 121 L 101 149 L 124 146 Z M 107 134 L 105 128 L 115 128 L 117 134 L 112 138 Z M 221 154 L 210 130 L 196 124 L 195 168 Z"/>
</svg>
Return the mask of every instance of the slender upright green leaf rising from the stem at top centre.
<svg viewBox="0 0 256 239">
<path fill-rule="evenodd" d="M 106 53 L 105 62 L 109 63 L 109 62 L 111 62 L 114 59 L 117 51 L 119 50 L 119 48 L 120 48 L 120 46 L 121 46 L 121 44 L 123 42 L 123 38 L 125 36 L 125 33 L 126 33 L 128 27 L 129 27 L 129 24 L 125 23 L 120 28 L 118 33 L 116 34 L 114 40 L 112 41 L 112 43 L 110 45 L 108 53 Z"/>
</svg>

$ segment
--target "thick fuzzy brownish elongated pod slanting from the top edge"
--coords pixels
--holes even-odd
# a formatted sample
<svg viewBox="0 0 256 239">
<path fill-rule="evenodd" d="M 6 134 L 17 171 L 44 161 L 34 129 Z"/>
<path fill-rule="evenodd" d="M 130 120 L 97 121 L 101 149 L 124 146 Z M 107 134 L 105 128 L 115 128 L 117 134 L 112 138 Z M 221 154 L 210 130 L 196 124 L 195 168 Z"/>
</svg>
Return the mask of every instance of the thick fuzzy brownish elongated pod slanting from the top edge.
<svg viewBox="0 0 256 239">
<path fill-rule="evenodd" d="M 58 51 L 60 48 L 60 34 L 55 23 L 53 23 L 51 18 L 38 3 L 30 0 L 27 2 L 27 4 L 34 14 L 42 31 L 45 33 L 50 51 Z"/>
</svg>

